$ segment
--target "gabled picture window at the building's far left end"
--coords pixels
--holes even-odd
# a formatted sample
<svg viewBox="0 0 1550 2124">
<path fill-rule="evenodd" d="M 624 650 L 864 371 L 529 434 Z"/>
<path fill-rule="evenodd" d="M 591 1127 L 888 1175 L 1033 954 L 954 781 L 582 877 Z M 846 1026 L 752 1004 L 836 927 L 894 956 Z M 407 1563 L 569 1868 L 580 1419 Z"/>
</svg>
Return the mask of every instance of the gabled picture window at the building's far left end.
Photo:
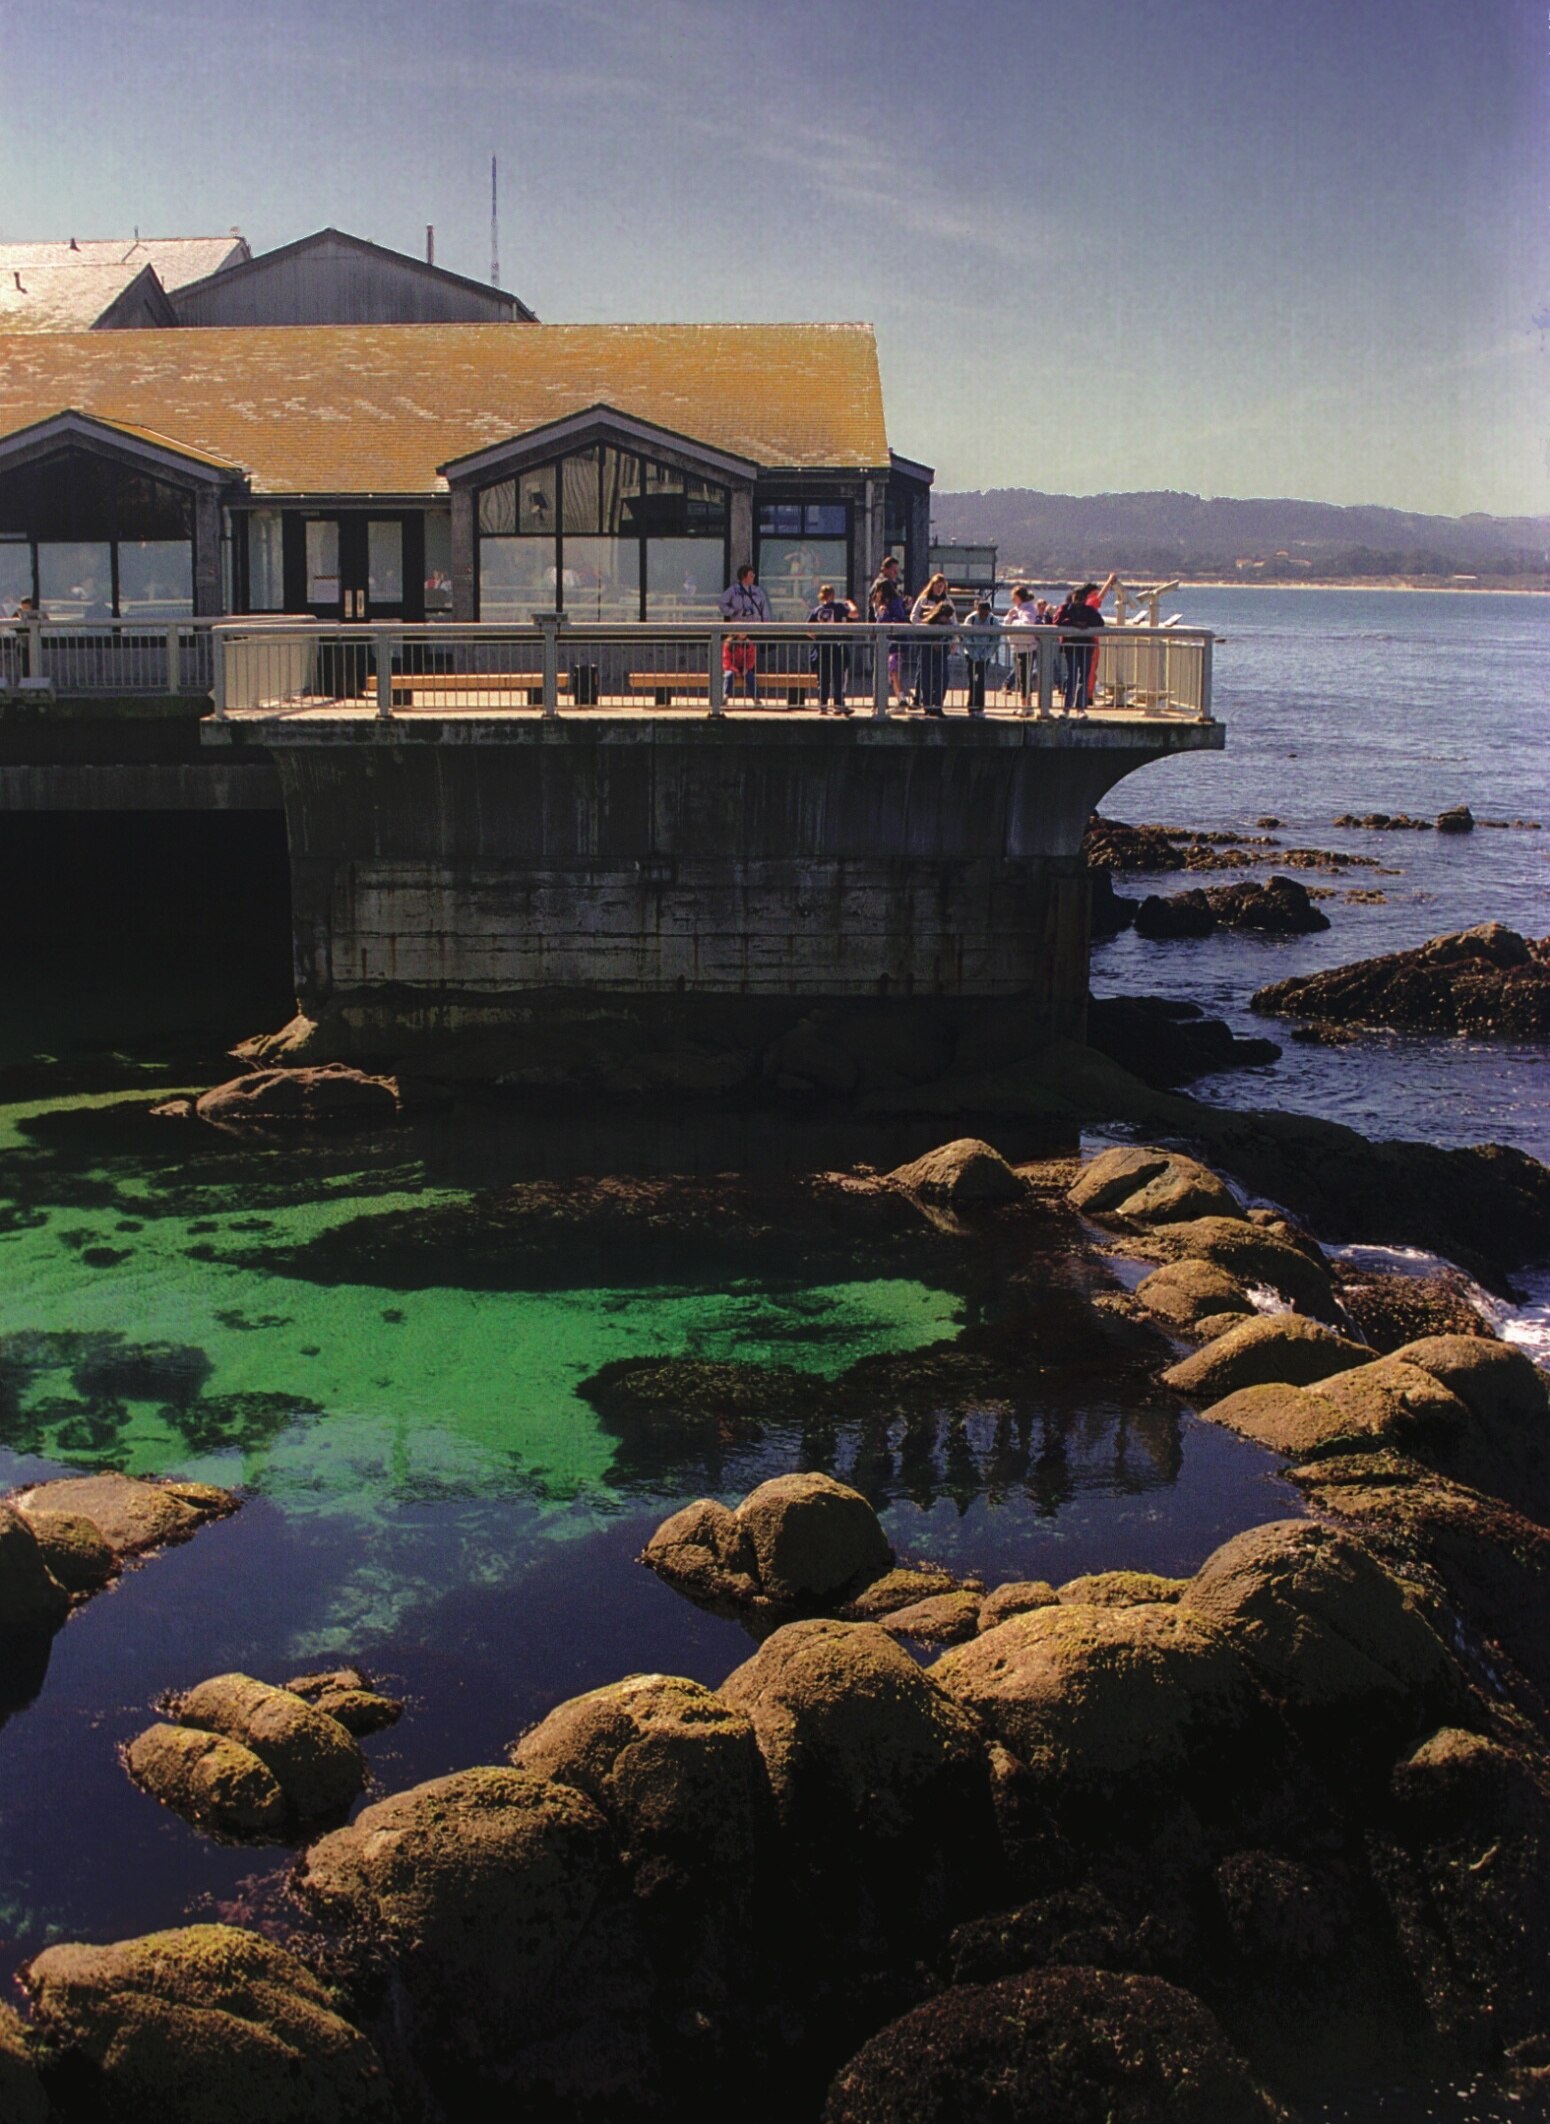
<svg viewBox="0 0 1550 2124">
<path fill-rule="evenodd" d="M 57 450 L 0 472 L 0 607 L 51 620 L 193 614 L 193 501 L 147 472 Z"/>
</svg>

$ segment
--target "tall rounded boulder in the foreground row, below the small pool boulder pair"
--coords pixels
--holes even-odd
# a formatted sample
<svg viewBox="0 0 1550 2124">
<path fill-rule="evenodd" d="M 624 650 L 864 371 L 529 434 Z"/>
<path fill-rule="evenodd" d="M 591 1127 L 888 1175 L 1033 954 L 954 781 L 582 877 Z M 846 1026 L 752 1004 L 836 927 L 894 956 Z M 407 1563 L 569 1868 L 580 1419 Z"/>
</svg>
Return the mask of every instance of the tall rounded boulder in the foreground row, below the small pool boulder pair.
<svg viewBox="0 0 1550 2124">
<path fill-rule="evenodd" d="M 875 1623 L 788 1623 L 720 1695 L 754 1725 L 781 1820 L 820 1848 L 936 1842 L 985 1791 L 975 1720 Z"/>
</svg>

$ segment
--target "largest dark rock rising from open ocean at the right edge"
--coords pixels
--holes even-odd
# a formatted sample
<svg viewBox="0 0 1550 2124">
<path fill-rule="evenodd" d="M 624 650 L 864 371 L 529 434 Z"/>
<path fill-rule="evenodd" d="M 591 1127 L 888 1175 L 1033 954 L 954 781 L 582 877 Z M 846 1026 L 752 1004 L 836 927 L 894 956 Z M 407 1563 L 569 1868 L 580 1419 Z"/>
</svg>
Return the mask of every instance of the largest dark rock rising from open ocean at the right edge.
<svg viewBox="0 0 1550 2124">
<path fill-rule="evenodd" d="M 1255 992 L 1253 1009 L 1342 1026 L 1544 1041 L 1550 1039 L 1550 939 L 1531 943 L 1501 922 L 1482 922 L 1414 952 L 1274 981 Z"/>
</svg>

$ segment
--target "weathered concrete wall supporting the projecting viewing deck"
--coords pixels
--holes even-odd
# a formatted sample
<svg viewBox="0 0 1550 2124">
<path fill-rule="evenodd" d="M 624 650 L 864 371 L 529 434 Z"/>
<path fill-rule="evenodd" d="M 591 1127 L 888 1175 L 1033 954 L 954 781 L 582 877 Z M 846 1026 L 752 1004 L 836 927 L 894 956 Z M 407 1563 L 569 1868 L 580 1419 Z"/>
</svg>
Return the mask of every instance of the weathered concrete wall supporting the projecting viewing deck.
<svg viewBox="0 0 1550 2124">
<path fill-rule="evenodd" d="M 1011 998 L 1079 1032 L 1087 813 L 1215 724 L 811 714 L 206 724 L 278 769 L 310 1017 L 539 998 Z"/>
</svg>

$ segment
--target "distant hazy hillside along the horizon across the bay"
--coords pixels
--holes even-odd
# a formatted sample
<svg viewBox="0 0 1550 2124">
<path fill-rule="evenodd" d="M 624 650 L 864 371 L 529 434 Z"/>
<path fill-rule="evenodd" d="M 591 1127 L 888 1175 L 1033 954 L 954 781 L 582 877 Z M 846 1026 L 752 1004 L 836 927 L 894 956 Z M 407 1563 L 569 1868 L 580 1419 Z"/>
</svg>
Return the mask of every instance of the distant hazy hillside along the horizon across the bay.
<svg viewBox="0 0 1550 2124">
<path fill-rule="evenodd" d="M 1412 516 L 1327 501 L 1204 501 L 1200 495 L 1043 495 L 996 486 L 932 495 L 932 535 L 1000 548 L 1002 573 L 1484 576 L 1550 582 L 1550 516 Z"/>
</svg>

